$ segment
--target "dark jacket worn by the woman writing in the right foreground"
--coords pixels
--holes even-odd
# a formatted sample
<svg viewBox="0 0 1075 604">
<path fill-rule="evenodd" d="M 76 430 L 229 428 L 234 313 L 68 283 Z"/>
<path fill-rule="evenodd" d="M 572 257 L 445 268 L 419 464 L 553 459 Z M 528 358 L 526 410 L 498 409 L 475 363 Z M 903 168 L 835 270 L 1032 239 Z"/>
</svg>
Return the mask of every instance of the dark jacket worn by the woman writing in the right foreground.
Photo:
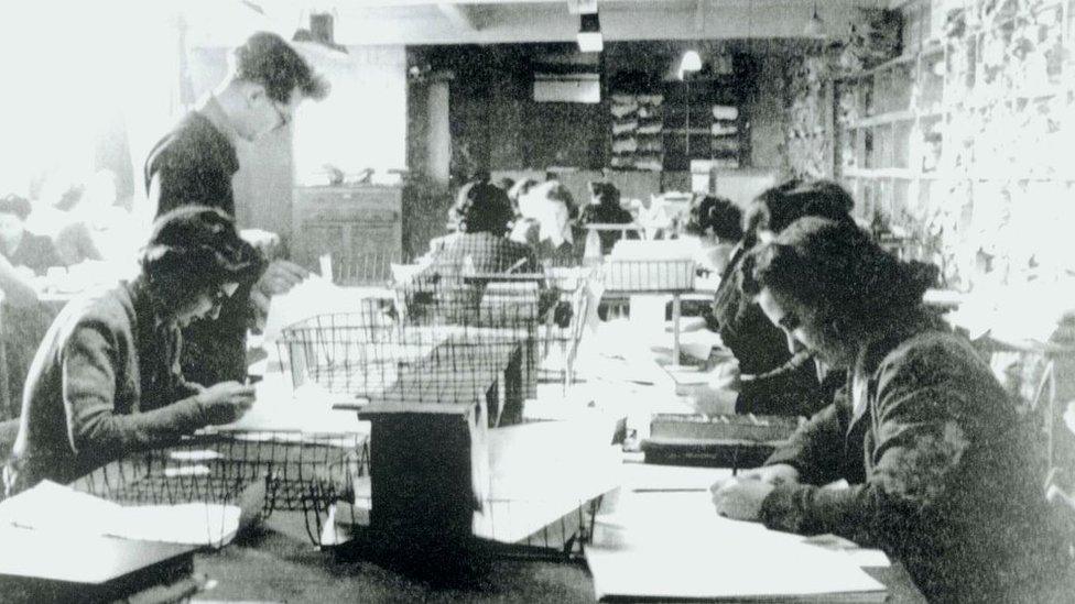
<svg viewBox="0 0 1075 604">
<path fill-rule="evenodd" d="M 775 487 L 767 526 L 881 547 L 931 601 L 1056 601 L 1068 561 L 1041 437 L 966 340 L 914 321 L 862 352 L 845 393 L 768 460 L 805 484 Z"/>
</svg>

